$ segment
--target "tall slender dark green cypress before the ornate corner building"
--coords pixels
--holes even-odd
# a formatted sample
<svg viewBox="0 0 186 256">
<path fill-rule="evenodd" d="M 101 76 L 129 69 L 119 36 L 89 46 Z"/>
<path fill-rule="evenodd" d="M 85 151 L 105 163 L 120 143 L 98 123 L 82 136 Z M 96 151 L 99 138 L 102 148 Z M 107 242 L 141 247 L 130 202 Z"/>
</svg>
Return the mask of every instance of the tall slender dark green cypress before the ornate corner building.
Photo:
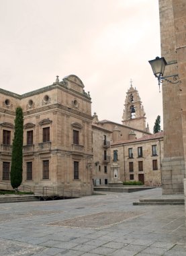
<svg viewBox="0 0 186 256">
<path fill-rule="evenodd" d="M 23 172 L 23 140 L 24 140 L 24 115 L 19 106 L 15 110 L 15 131 L 11 155 L 10 181 L 11 187 L 17 191 L 22 182 Z"/>
</svg>

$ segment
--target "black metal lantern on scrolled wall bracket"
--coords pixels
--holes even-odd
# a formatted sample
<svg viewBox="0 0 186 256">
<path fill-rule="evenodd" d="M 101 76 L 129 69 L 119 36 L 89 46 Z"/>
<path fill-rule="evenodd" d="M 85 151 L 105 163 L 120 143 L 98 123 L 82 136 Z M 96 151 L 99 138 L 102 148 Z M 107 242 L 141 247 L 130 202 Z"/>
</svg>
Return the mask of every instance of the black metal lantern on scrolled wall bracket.
<svg viewBox="0 0 186 256">
<path fill-rule="evenodd" d="M 171 84 L 178 84 L 180 81 L 178 74 L 176 75 L 167 75 L 163 76 L 165 67 L 169 64 L 167 64 L 167 61 L 165 61 L 165 58 L 159 58 L 156 57 L 156 59 L 152 59 L 152 61 L 148 61 L 150 63 L 150 66 L 152 67 L 152 71 L 155 75 L 155 77 L 158 78 L 158 86 L 159 86 L 159 91 L 160 91 L 160 83 L 162 83 L 162 80 L 166 80 L 167 82 Z M 167 79 L 168 77 L 173 77 L 173 80 Z"/>
</svg>

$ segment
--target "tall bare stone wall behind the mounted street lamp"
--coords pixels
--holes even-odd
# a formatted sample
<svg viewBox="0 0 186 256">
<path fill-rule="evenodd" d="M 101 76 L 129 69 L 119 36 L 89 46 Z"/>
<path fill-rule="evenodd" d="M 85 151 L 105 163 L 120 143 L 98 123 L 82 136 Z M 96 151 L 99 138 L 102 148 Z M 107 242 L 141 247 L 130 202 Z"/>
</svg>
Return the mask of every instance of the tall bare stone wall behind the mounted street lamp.
<svg viewBox="0 0 186 256">
<path fill-rule="evenodd" d="M 183 193 L 186 159 L 186 5 L 185 0 L 159 0 L 161 54 L 168 65 L 166 75 L 179 74 L 181 83 L 163 82 L 164 194 Z"/>
</svg>

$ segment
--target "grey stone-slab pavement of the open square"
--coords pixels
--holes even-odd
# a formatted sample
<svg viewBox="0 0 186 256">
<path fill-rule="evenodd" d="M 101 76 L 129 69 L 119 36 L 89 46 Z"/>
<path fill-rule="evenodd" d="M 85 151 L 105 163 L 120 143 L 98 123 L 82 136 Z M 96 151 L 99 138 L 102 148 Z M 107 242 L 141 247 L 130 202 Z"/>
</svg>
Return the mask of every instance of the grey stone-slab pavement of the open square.
<svg viewBox="0 0 186 256">
<path fill-rule="evenodd" d="M 186 256 L 184 205 L 132 205 L 161 189 L 0 204 L 0 255 Z"/>
</svg>

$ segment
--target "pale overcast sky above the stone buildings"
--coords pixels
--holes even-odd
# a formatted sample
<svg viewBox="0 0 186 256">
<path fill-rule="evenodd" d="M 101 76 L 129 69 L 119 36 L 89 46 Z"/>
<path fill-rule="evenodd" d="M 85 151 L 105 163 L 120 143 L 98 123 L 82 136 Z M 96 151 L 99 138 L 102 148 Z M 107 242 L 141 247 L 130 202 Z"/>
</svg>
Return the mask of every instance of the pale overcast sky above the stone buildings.
<svg viewBox="0 0 186 256">
<path fill-rule="evenodd" d="M 162 94 L 158 0 L 0 0 L 0 88 L 24 94 L 77 75 L 99 121 L 122 123 L 130 79 L 152 132 Z M 162 127 L 162 122 L 161 122 Z"/>
</svg>

